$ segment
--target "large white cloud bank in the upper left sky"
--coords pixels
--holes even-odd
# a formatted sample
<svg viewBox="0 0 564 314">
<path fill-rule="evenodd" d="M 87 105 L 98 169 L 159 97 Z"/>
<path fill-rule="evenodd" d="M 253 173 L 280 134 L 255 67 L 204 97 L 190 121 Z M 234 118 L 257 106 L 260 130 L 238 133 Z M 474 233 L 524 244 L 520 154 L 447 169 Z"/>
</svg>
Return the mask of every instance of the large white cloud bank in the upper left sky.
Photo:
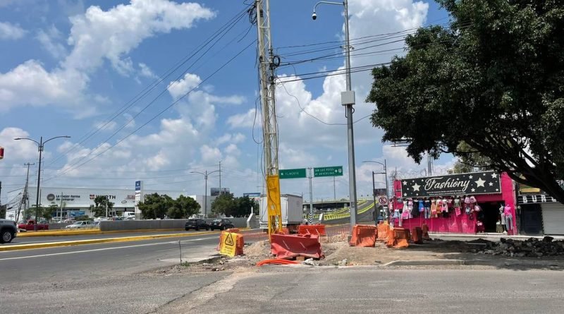
<svg viewBox="0 0 564 314">
<path fill-rule="evenodd" d="M 85 99 L 94 97 L 87 95 L 87 85 L 92 72 L 104 60 L 110 61 L 119 73 L 129 75 L 133 60 L 127 54 L 143 40 L 171 30 L 192 28 L 197 20 L 214 16 L 213 11 L 200 4 L 168 0 L 131 0 L 130 4 L 120 4 L 108 11 L 90 6 L 84 14 L 71 17 L 67 42 L 72 49 L 59 67 L 48 71 L 39 61 L 29 60 L 0 73 L 0 111 L 52 104 L 89 114 L 87 108 L 95 109 L 86 105 Z M 56 44 L 57 35 L 56 29 L 51 28 L 39 31 L 37 39 L 51 54 L 61 56 L 65 49 Z M 140 67 L 141 73 L 149 74 L 148 68 Z"/>
</svg>

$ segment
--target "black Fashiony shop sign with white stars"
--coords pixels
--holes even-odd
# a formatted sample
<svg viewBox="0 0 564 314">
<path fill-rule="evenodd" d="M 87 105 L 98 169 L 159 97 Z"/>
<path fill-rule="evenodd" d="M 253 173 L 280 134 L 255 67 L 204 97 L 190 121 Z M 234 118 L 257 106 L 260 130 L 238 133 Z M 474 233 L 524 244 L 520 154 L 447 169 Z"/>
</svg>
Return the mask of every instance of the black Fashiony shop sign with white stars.
<svg viewBox="0 0 564 314">
<path fill-rule="evenodd" d="M 448 176 L 427 176 L 401 181 L 405 198 L 439 195 L 476 195 L 501 193 L 499 174 L 494 171 Z"/>
</svg>

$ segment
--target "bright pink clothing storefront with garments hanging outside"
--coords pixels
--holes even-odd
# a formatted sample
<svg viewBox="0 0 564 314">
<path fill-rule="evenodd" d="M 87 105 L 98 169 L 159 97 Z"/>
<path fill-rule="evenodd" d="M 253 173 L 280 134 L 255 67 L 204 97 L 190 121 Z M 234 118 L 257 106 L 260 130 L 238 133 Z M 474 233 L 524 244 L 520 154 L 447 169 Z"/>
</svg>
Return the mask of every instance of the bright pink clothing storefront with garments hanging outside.
<svg viewBox="0 0 564 314">
<path fill-rule="evenodd" d="M 394 227 L 430 232 L 517 234 L 515 185 L 494 171 L 402 179 L 388 206 Z"/>
</svg>

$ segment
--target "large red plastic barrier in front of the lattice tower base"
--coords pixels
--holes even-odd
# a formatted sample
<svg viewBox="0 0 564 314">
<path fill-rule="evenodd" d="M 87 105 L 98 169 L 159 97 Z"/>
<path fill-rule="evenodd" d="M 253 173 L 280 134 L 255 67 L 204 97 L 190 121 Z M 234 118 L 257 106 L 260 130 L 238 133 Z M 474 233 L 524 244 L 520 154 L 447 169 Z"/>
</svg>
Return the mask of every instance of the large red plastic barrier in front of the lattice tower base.
<svg viewBox="0 0 564 314">
<path fill-rule="evenodd" d="M 319 236 L 312 234 L 272 234 L 270 237 L 270 251 L 276 258 L 323 258 Z"/>
</svg>

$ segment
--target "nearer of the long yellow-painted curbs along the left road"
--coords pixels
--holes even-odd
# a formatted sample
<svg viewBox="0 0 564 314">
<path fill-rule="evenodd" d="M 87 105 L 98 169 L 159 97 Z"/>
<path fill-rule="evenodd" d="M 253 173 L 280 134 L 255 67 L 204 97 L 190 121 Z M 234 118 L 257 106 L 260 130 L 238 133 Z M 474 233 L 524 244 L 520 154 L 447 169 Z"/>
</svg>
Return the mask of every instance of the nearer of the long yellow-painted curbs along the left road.
<svg viewBox="0 0 564 314">
<path fill-rule="evenodd" d="M 125 236 L 122 238 L 93 238 L 89 240 L 76 240 L 76 241 L 65 241 L 65 242 L 48 242 L 48 243 L 30 243 L 30 244 L 16 244 L 14 246 L 0 246 L 0 251 L 7 250 L 27 250 L 30 248 L 54 248 L 59 246 L 80 246 L 85 244 L 97 244 L 97 243 L 112 243 L 112 242 L 130 242 L 130 241 L 142 241 L 151 240 L 154 238 L 178 238 L 185 236 L 205 236 L 208 234 L 217 234 L 216 232 L 201 232 L 192 234 L 154 234 L 152 236 Z"/>
</svg>

